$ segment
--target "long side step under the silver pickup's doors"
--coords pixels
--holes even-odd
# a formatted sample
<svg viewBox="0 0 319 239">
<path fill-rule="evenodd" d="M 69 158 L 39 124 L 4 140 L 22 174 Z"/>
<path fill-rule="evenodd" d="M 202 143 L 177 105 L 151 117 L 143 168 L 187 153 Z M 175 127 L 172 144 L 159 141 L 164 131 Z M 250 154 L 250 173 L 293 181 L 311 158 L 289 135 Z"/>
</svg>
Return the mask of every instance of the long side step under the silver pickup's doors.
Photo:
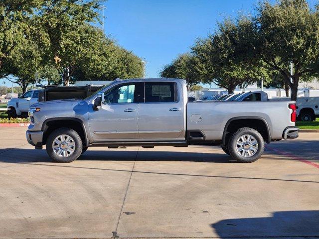
<svg viewBox="0 0 319 239">
<path fill-rule="evenodd" d="M 186 141 L 151 141 L 151 142 L 94 142 L 89 146 L 93 147 L 121 147 L 121 146 L 145 146 L 145 147 L 154 147 L 154 146 L 174 146 L 174 147 L 187 147 L 188 144 Z"/>
</svg>

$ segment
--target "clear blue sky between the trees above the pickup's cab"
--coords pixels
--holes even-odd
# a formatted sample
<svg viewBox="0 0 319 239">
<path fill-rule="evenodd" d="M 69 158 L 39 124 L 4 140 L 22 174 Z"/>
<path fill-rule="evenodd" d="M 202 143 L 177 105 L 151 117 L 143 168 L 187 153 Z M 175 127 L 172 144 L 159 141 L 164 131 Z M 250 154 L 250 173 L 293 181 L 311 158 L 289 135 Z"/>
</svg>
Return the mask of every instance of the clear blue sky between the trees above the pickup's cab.
<svg viewBox="0 0 319 239">
<path fill-rule="evenodd" d="M 257 0 L 108 0 L 105 33 L 147 64 L 147 77 L 159 77 L 164 64 L 189 51 L 216 22 L 251 12 Z"/>
</svg>

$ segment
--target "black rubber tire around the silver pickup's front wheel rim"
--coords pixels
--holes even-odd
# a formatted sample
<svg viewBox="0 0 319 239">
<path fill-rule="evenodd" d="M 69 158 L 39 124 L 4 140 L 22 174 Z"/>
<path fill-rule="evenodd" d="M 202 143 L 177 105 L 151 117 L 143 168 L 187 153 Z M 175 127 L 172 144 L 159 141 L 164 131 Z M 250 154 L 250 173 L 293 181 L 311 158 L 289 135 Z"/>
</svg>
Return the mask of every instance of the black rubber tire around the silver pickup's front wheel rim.
<svg viewBox="0 0 319 239">
<path fill-rule="evenodd" d="M 73 153 L 70 153 L 69 156 L 65 156 L 65 157 L 59 156 L 53 150 L 53 147 L 52 147 L 53 140 L 62 134 L 71 137 L 72 138 L 71 142 L 74 142 L 74 144 L 75 144 L 75 148 L 74 148 Z M 61 145 L 61 147 L 62 147 L 62 145 Z M 50 135 L 48 136 L 48 138 L 46 140 L 46 151 L 47 151 L 48 155 L 55 162 L 59 162 L 59 163 L 70 163 L 70 162 L 76 160 L 81 155 L 82 150 L 83 150 L 82 148 L 83 148 L 83 145 L 82 145 L 82 140 L 81 140 L 80 135 L 75 130 L 73 130 L 71 128 L 57 128 L 52 133 L 50 133 Z M 66 154 L 67 153 L 68 152 L 66 152 Z"/>
</svg>

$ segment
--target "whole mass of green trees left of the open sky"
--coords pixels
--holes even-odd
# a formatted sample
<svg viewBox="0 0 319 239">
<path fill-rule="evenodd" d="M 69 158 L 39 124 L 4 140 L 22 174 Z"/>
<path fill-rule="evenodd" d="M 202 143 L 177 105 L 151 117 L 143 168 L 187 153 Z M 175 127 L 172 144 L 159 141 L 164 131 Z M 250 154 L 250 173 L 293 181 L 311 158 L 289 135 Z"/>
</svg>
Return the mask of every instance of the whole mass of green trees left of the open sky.
<svg viewBox="0 0 319 239">
<path fill-rule="evenodd" d="M 101 0 L 2 0 L 0 78 L 25 91 L 36 80 L 141 77 L 142 59 L 118 46 L 96 25 Z"/>
</svg>

